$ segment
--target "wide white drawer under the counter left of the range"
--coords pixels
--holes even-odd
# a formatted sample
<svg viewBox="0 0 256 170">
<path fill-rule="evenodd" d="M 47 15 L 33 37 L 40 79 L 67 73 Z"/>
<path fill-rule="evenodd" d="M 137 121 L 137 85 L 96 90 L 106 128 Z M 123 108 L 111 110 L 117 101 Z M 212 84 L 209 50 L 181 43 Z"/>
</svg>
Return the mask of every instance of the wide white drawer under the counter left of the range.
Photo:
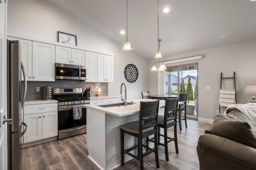
<svg viewBox="0 0 256 170">
<path fill-rule="evenodd" d="M 24 115 L 58 111 L 58 104 L 36 104 L 24 106 Z"/>
</svg>

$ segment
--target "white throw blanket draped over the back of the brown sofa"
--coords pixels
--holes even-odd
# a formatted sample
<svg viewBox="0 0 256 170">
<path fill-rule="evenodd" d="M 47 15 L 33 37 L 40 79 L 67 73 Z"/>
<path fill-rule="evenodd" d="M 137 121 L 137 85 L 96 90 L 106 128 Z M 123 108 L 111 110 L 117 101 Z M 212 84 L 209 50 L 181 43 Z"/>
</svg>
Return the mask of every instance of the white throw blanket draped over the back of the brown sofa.
<svg viewBox="0 0 256 170">
<path fill-rule="evenodd" d="M 238 109 L 256 126 L 256 103 L 234 104 L 234 105 L 228 106 L 227 109 L 230 109 L 230 108 Z M 226 115 L 226 110 L 224 111 L 224 115 Z"/>
</svg>

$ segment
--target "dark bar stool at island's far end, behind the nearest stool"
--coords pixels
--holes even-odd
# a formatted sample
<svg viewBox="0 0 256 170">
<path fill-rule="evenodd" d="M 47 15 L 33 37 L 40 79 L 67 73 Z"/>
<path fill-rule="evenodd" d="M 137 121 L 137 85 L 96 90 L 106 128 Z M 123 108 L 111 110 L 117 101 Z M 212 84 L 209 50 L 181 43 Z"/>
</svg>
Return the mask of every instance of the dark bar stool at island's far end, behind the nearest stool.
<svg viewBox="0 0 256 170">
<path fill-rule="evenodd" d="M 179 153 L 178 150 L 178 139 L 177 139 L 177 107 L 178 107 L 178 98 L 166 99 L 164 106 L 164 116 L 158 115 L 158 145 L 164 146 L 165 159 L 169 161 L 168 155 L 168 143 L 171 141 L 175 142 L 176 153 Z M 174 137 L 170 138 L 167 135 L 167 129 L 174 126 Z M 164 129 L 164 135 L 160 134 L 160 128 Z M 160 143 L 160 136 L 164 137 L 164 143 Z M 169 140 L 168 140 L 169 139 Z M 154 142 L 152 139 L 146 140 L 146 146 L 149 142 Z"/>
</svg>

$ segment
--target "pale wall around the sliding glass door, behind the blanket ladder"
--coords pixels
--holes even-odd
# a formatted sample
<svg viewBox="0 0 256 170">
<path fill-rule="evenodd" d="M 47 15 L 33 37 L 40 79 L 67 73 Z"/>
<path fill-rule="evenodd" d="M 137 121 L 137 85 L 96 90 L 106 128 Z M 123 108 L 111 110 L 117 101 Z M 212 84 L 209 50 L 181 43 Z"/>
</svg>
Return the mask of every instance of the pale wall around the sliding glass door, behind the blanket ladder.
<svg viewBox="0 0 256 170">
<path fill-rule="evenodd" d="M 250 95 L 244 95 L 244 86 L 256 84 L 256 40 L 246 41 L 222 47 L 195 51 L 182 55 L 163 58 L 162 61 L 170 61 L 196 55 L 204 55 L 204 59 L 169 64 L 175 66 L 181 64 L 198 63 L 198 106 L 199 117 L 213 119 L 216 110 L 219 109 L 220 73 L 224 77 L 232 77 L 236 72 L 237 103 L 246 104 L 251 100 Z M 149 69 L 157 60 L 149 62 Z M 149 71 L 149 91 L 151 94 L 157 93 L 157 72 Z M 225 80 L 222 88 L 233 88 L 230 80 Z M 210 90 L 206 90 L 210 86 Z M 221 113 L 223 113 L 221 109 Z"/>
</svg>

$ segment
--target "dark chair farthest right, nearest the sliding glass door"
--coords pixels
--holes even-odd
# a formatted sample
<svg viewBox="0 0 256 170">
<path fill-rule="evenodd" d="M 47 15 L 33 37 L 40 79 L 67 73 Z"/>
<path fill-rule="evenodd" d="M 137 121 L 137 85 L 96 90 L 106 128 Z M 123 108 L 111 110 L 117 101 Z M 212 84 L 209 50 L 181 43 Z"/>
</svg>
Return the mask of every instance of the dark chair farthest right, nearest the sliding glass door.
<svg viewBox="0 0 256 170">
<path fill-rule="evenodd" d="M 179 112 L 178 122 L 179 122 L 179 125 L 180 125 L 180 130 L 182 130 L 182 127 L 181 127 L 181 121 L 182 120 L 185 120 L 185 126 L 186 126 L 186 128 L 188 127 L 188 125 L 187 125 L 187 113 L 186 113 L 187 97 L 188 97 L 187 93 L 180 93 L 179 102 L 183 102 L 183 104 L 180 104 L 179 107 L 178 107 L 178 112 Z M 181 114 L 182 111 L 184 111 L 184 118 L 181 119 L 180 114 Z"/>
</svg>

